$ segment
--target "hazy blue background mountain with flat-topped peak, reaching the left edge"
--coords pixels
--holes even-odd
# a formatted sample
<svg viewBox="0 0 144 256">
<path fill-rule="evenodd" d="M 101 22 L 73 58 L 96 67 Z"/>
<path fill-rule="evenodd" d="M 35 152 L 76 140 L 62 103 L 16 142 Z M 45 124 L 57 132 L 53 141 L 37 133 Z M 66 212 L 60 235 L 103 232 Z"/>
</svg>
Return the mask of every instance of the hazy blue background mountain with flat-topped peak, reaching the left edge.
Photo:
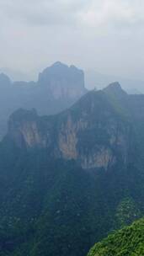
<svg viewBox="0 0 144 256">
<path fill-rule="evenodd" d="M 37 82 L 11 82 L 0 74 L 0 139 L 6 134 L 8 117 L 19 108 L 35 108 L 40 115 L 67 109 L 87 90 L 83 71 L 56 62 L 40 73 Z"/>
</svg>

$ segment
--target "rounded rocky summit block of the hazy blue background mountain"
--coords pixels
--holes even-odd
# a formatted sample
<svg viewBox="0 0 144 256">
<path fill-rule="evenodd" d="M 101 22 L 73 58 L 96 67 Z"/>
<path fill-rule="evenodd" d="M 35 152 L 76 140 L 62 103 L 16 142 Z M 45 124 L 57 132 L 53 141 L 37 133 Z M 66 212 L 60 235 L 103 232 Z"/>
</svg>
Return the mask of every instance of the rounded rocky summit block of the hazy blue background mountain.
<svg viewBox="0 0 144 256">
<path fill-rule="evenodd" d="M 83 71 L 61 62 L 40 73 L 38 83 L 47 88 L 54 99 L 77 99 L 86 93 Z"/>
</svg>

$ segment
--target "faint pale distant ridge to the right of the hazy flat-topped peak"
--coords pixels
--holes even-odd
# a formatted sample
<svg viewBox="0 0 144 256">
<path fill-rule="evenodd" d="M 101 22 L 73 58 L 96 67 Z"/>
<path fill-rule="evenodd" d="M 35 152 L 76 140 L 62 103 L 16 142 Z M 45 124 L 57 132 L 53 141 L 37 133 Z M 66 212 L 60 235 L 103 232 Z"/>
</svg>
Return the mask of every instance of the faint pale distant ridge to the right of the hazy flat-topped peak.
<svg viewBox="0 0 144 256">
<path fill-rule="evenodd" d="M 144 81 L 141 79 L 131 79 L 126 77 L 120 77 L 116 75 L 107 75 L 93 70 L 85 71 L 85 84 L 86 88 L 104 88 L 109 83 L 119 81 L 122 88 L 130 94 L 141 94 L 144 93 Z"/>
</svg>

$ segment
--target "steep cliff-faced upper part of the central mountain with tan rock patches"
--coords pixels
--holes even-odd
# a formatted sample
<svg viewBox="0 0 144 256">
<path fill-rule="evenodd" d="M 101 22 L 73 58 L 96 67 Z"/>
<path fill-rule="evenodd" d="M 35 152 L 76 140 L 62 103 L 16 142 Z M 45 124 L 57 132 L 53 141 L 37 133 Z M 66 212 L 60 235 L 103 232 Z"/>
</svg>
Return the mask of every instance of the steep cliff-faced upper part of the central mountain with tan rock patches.
<svg viewBox="0 0 144 256">
<path fill-rule="evenodd" d="M 46 119 L 17 111 L 10 118 L 8 136 L 18 147 L 43 147 L 49 156 L 75 160 L 86 169 L 126 164 L 131 150 L 131 125 L 101 91 L 88 93 L 71 109 Z"/>
</svg>

